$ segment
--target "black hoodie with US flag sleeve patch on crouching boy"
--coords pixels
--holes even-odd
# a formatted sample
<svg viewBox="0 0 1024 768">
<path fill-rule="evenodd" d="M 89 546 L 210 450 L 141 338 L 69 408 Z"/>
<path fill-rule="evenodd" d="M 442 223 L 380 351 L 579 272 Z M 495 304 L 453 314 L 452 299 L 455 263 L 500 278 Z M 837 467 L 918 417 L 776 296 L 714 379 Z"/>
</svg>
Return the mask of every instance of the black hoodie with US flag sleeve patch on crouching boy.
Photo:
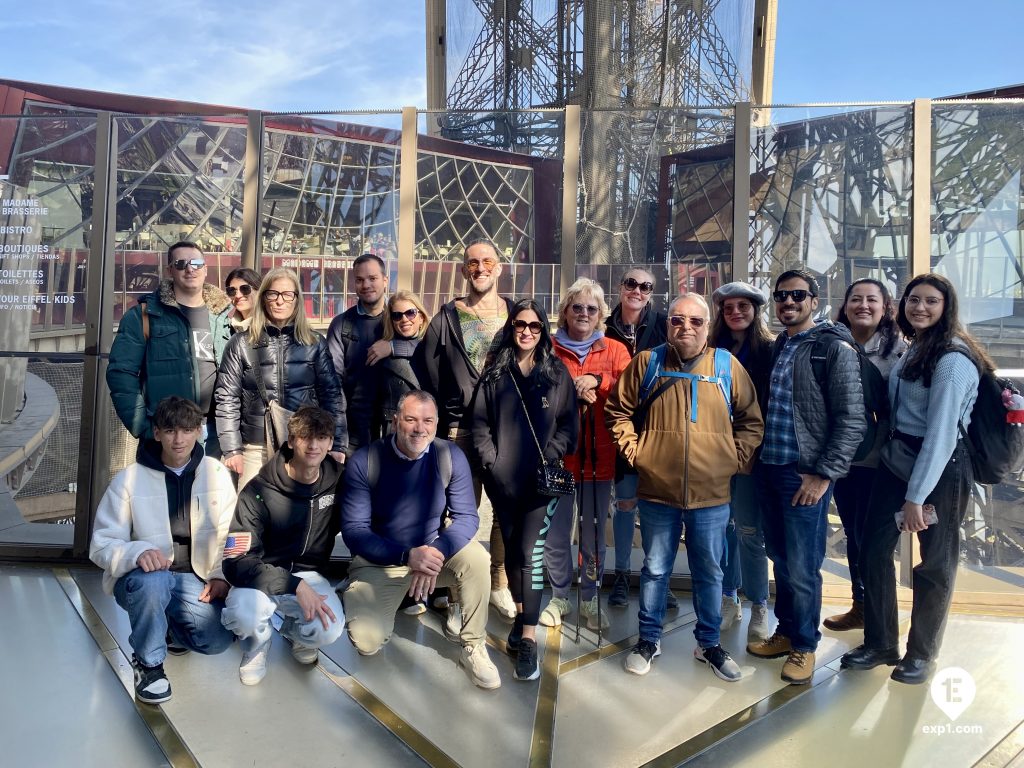
<svg viewBox="0 0 1024 768">
<path fill-rule="evenodd" d="M 224 558 L 224 578 L 232 587 L 258 589 L 268 595 L 293 595 L 302 570 L 323 570 L 331 559 L 341 527 L 335 503 L 342 467 L 328 456 L 316 482 L 296 482 L 285 463 L 286 444 L 239 494 L 227 547 L 244 551 Z M 233 538 L 237 532 L 249 534 Z"/>
</svg>

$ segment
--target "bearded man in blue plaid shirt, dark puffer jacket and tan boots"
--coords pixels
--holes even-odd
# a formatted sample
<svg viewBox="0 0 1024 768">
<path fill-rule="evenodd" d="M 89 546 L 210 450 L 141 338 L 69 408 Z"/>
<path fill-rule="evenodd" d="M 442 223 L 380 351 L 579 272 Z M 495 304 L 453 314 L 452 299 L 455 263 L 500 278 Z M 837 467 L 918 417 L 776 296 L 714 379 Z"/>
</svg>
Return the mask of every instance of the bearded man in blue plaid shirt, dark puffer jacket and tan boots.
<svg viewBox="0 0 1024 768">
<path fill-rule="evenodd" d="M 775 564 L 778 627 L 746 651 L 787 656 L 782 680 L 794 685 L 810 683 L 814 675 L 828 502 L 866 427 L 853 336 L 845 326 L 814 322 L 817 296 L 817 281 L 806 270 L 791 269 L 775 282 L 775 316 L 785 333 L 775 340 L 765 439 L 754 470 L 765 549 Z M 812 353 L 825 334 L 836 339 L 825 347 L 819 386 Z"/>
</svg>

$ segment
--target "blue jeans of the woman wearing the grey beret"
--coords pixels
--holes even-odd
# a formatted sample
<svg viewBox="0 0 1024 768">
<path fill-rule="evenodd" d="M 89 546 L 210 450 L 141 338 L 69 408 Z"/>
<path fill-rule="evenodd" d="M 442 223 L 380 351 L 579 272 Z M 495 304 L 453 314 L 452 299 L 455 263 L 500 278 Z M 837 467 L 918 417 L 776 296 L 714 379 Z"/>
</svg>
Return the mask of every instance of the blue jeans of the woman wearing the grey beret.
<svg viewBox="0 0 1024 768">
<path fill-rule="evenodd" d="M 768 602 L 768 555 L 754 476 L 733 475 L 731 490 L 732 519 L 725 532 L 722 589 L 735 592 L 742 587 L 749 600 L 765 604 Z"/>
</svg>

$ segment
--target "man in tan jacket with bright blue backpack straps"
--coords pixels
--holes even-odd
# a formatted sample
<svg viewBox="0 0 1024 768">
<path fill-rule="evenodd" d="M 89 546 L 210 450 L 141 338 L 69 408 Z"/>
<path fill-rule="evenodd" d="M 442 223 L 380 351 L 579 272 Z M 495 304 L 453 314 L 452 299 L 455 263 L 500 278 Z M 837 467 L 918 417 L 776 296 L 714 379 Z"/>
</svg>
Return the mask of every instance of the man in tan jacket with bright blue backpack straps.
<svg viewBox="0 0 1024 768">
<path fill-rule="evenodd" d="M 702 298 L 676 299 L 668 343 L 633 359 L 604 410 L 620 453 L 640 480 L 640 640 L 626 659 L 626 671 L 635 675 L 647 674 L 662 652 L 665 596 L 685 524 L 697 615 L 694 658 L 723 680 L 741 677 L 719 643 L 719 563 L 729 522 L 729 479 L 749 468 L 764 421 L 743 367 L 727 350 L 708 348 L 710 325 Z"/>
</svg>

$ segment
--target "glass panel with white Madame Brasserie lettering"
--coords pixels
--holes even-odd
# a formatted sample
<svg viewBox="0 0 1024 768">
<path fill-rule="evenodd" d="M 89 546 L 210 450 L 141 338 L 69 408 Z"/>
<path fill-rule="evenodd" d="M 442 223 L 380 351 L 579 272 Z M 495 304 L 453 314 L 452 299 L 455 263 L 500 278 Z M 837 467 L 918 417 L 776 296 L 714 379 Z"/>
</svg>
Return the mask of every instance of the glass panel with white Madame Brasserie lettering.
<svg viewBox="0 0 1024 768">
<path fill-rule="evenodd" d="M 49 112 L 0 119 L 0 541 L 69 546 L 96 123 Z"/>
</svg>

